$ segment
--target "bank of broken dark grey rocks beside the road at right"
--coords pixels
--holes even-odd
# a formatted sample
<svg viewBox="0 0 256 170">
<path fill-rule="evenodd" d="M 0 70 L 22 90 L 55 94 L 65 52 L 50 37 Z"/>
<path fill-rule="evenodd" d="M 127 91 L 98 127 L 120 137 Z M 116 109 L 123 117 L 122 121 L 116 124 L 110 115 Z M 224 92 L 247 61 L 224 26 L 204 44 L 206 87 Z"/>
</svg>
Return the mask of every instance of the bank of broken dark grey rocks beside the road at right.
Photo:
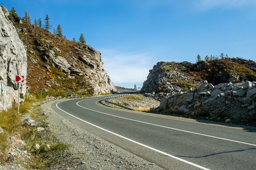
<svg viewBox="0 0 256 170">
<path fill-rule="evenodd" d="M 163 97 L 158 111 L 256 125 L 256 82 L 199 83 L 196 89 Z"/>
</svg>

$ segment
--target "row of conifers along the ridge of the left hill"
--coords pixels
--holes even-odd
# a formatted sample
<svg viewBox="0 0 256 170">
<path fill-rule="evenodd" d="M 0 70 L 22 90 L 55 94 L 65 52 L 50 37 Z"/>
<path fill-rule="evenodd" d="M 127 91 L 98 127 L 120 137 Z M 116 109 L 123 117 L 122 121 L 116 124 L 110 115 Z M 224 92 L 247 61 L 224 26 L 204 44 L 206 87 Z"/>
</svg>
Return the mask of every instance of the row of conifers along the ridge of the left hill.
<svg viewBox="0 0 256 170">
<path fill-rule="evenodd" d="M 28 14 L 28 12 L 25 11 L 24 17 L 22 17 L 20 19 L 20 17 L 16 13 L 16 10 L 15 10 L 14 7 L 10 11 L 9 19 L 14 21 L 14 22 L 18 22 L 18 23 L 20 22 L 20 20 L 22 20 L 23 22 L 31 24 L 31 17 Z M 43 29 L 45 29 L 47 31 L 50 31 L 52 29 L 52 25 L 50 24 L 50 17 L 49 17 L 48 14 L 46 14 L 46 16 L 44 18 L 44 23 L 42 23 L 42 19 L 39 18 L 39 19 L 35 19 L 34 20 L 33 25 L 35 25 L 37 27 L 40 27 L 40 28 L 43 28 Z M 55 34 L 55 35 L 57 35 L 57 36 L 59 36 L 61 38 L 67 39 L 66 35 L 62 34 L 62 29 L 61 29 L 60 24 L 58 24 L 57 29 L 53 28 L 53 33 L 52 34 Z M 73 41 L 77 42 L 75 37 L 73 38 Z M 79 42 L 82 43 L 82 44 L 86 44 L 85 37 L 84 37 L 84 35 L 82 33 L 79 36 Z"/>
</svg>

